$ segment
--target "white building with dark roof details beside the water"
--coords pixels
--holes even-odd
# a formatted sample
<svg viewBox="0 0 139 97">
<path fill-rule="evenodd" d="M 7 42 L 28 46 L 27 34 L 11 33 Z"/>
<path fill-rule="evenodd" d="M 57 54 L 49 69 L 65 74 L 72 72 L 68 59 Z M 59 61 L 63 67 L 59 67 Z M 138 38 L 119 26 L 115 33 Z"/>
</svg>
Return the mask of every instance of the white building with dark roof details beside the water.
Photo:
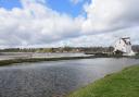
<svg viewBox="0 0 139 97">
<path fill-rule="evenodd" d="M 114 46 L 114 53 L 122 52 L 123 56 L 135 56 L 131 49 L 130 37 L 119 38 Z"/>
</svg>

